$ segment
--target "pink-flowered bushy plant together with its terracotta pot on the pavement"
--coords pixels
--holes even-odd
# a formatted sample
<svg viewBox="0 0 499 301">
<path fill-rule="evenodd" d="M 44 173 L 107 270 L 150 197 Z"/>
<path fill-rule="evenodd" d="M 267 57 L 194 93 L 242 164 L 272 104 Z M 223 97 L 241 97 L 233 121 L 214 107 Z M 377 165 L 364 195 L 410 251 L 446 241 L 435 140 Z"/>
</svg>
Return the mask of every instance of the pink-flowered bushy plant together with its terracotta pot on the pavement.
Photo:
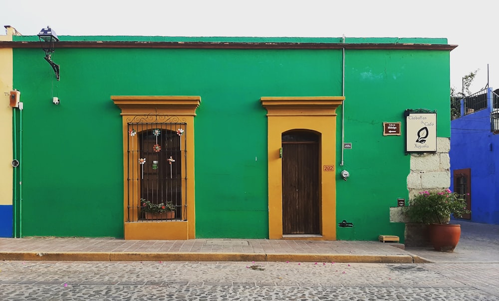
<svg viewBox="0 0 499 301">
<path fill-rule="evenodd" d="M 461 225 L 449 223 L 451 214 L 459 218 L 470 212 L 465 196 L 449 189 L 420 192 L 406 210 L 412 222 L 429 224 L 430 241 L 435 250 L 443 252 L 454 251 L 461 236 Z"/>
</svg>

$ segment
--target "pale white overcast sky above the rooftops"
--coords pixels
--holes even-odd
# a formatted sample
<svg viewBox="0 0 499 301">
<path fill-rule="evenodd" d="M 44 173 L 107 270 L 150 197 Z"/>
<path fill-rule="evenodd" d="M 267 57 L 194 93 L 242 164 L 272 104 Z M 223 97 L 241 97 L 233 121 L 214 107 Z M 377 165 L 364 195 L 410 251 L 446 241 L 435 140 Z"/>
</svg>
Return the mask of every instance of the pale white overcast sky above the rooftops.
<svg viewBox="0 0 499 301">
<path fill-rule="evenodd" d="M 46 3 L 46 4 L 45 4 Z M 431 37 L 451 51 L 451 86 L 499 88 L 496 0 L 0 0 L 0 25 L 36 35 Z"/>
</svg>

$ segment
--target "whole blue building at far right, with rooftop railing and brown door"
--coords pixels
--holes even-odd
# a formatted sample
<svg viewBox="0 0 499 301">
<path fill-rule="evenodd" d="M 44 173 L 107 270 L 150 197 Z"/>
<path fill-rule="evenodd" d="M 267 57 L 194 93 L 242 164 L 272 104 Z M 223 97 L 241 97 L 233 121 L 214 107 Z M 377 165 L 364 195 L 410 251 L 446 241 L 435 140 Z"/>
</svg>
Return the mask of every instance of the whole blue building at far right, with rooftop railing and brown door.
<svg viewBox="0 0 499 301">
<path fill-rule="evenodd" d="M 473 222 L 499 224 L 499 89 L 486 88 L 454 105 L 451 189 L 467 195 Z"/>
</svg>

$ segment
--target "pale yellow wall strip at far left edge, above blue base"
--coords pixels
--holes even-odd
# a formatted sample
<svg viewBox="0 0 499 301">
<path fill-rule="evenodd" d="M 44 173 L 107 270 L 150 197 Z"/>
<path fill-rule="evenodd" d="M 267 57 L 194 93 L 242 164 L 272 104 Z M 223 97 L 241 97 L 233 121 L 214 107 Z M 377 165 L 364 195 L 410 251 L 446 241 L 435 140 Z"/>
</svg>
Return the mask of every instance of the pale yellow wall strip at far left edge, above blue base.
<svg viewBox="0 0 499 301">
<path fill-rule="evenodd" d="M 12 34 L 0 35 L 11 41 Z M 0 48 L 0 205 L 12 204 L 12 108 L 8 92 L 12 88 L 12 48 Z"/>
</svg>

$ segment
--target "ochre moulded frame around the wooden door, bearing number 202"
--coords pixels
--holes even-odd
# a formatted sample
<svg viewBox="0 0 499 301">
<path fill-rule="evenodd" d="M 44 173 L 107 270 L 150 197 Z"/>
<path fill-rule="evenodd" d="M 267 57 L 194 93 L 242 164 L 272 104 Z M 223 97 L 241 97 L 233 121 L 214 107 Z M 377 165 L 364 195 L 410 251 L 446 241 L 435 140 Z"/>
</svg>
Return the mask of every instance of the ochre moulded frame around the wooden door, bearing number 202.
<svg viewBox="0 0 499 301">
<path fill-rule="evenodd" d="M 319 237 L 336 239 L 336 108 L 344 97 L 262 97 L 268 122 L 268 237 L 282 239 L 281 135 L 289 130 L 320 133 Z M 287 238 L 287 237 L 286 237 Z"/>
</svg>

